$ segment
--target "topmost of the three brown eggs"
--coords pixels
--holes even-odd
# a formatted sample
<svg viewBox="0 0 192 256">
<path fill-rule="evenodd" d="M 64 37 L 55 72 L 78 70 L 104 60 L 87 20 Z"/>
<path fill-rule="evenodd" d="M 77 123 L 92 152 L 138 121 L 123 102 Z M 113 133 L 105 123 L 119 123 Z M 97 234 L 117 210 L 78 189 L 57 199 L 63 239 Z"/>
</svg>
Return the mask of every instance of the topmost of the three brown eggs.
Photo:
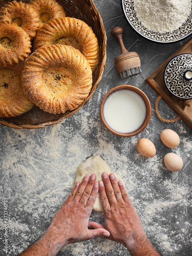
<svg viewBox="0 0 192 256">
<path fill-rule="evenodd" d="M 179 135 L 170 129 L 165 129 L 161 132 L 161 140 L 168 147 L 177 147 L 180 143 Z"/>
</svg>

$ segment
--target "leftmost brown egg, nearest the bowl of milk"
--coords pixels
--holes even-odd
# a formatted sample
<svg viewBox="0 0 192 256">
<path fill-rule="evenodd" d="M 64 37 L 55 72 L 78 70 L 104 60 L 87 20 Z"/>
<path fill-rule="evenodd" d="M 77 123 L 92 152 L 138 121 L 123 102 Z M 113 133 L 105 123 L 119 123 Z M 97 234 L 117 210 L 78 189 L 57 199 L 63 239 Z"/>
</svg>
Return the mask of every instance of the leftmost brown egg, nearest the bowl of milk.
<svg viewBox="0 0 192 256">
<path fill-rule="evenodd" d="M 151 140 L 142 138 L 137 142 L 138 151 L 145 157 L 154 157 L 156 148 Z"/>
</svg>

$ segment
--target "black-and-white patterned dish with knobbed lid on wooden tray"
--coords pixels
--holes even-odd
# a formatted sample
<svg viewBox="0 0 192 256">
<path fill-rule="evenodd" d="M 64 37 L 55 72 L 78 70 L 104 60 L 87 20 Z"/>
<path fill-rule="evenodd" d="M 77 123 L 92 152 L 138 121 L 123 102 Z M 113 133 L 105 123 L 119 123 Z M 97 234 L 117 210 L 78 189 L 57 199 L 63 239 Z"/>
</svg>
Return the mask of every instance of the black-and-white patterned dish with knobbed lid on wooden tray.
<svg viewBox="0 0 192 256">
<path fill-rule="evenodd" d="M 165 86 L 174 96 L 192 99 L 192 54 L 180 54 L 171 59 L 164 71 Z"/>
</svg>

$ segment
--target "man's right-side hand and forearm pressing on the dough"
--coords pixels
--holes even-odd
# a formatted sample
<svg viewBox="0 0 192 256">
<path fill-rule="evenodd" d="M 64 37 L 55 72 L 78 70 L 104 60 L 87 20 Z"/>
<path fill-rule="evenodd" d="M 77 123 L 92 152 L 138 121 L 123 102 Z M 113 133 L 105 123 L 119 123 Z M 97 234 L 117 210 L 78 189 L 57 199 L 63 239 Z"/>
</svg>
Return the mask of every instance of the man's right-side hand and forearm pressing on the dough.
<svg viewBox="0 0 192 256">
<path fill-rule="evenodd" d="M 148 241 L 135 208 L 121 181 L 113 174 L 103 173 L 99 193 L 105 215 L 105 227 L 89 222 L 92 228 L 106 228 L 108 239 L 122 243 L 134 256 L 160 255 Z"/>
</svg>

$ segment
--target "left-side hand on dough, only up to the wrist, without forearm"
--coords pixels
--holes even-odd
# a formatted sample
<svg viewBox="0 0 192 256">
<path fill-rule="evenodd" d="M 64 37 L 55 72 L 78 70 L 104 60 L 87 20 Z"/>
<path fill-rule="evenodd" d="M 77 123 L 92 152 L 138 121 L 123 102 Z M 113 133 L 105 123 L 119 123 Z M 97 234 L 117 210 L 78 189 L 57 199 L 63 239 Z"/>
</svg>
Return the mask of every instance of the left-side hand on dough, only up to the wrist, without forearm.
<svg viewBox="0 0 192 256">
<path fill-rule="evenodd" d="M 57 244 L 63 247 L 69 243 L 89 240 L 94 237 L 108 237 L 109 231 L 98 228 L 88 229 L 88 222 L 95 203 L 99 183 L 95 182 L 96 175 L 87 175 L 76 182 L 67 201 L 63 203 L 53 218 L 48 232 L 57 237 Z"/>
</svg>

